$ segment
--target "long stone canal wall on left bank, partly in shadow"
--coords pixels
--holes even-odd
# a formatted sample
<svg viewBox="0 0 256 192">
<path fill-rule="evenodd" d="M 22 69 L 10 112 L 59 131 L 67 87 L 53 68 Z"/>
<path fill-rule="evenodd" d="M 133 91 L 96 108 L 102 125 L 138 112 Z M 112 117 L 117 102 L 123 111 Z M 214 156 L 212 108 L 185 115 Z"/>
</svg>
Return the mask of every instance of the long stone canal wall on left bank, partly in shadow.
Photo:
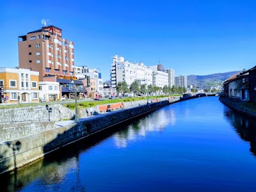
<svg viewBox="0 0 256 192">
<path fill-rule="evenodd" d="M 172 102 L 177 102 L 177 100 L 179 99 L 172 100 Z M 3 131 L 2 127 L 1 136 L 6 134 L 6 138 L 10 138 L 8 132 L 13 132 L 16 135 L 15 139 L 0 143 L 0 173 L 20 168 L 69 143 L 168 104 L 170 104 L 168 100 L 152 102 L 148 105 L 147 103 L 145 105 L 139 103 L 138 106 L 133 108 L 80 119 L 77 124 L 69 124 L 63 127 L 52 127 L 52 122 L 42 122 L 40 128 L 38 128 L 40 125 L 36 123 L 28 124 L 28 127 L 17 124 L 13 131 L 16 130 L 19 134 L 10 131 L 10 128 Z M 27 130 L 27 132 L 24 133 L 24 130 Z M 16 138 L 17 136 L 19 138 Z"/>
</svg>

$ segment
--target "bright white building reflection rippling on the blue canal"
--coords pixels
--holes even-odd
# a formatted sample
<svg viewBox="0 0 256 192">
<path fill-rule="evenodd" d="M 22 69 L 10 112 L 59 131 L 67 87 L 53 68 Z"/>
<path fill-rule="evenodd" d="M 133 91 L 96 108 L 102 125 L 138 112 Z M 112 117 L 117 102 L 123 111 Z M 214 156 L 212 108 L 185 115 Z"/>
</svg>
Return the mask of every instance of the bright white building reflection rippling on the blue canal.
<svg viewBox="0 0 256 192">
<path fill-rule="evenodd" d="M 116 133 L 115 145 L 118 148 L 125 148 L 128 141 L 141 140 L 145 138 L 147 132 L 163 131 L 164 127 L 170 123 L 175 124 L 174 111 L 159 110 L 129 125 L 124 131 Z"/>
</svg>

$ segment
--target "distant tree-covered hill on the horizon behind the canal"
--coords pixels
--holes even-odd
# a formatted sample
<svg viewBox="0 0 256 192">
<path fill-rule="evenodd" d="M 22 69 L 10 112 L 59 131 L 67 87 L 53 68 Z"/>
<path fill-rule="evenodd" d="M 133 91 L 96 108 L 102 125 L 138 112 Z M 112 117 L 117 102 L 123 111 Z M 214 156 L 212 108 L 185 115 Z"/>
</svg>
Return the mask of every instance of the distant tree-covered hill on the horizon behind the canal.
<svg viewBox="0 0 256 192">
<path fill-rule="evenodd" d="M 228 77 L 234 76 L 234 74 L 237 74 L 237 72 L 239 71 L 210 74 L 207 76 L 191 75 L 191 76 L 188 76 L 188 86 L 192 84 L 193 87 L 209 88 L 211 86 L 222 85 L 223 82 L 226 79 L 228 79 Z"/>
</svg>

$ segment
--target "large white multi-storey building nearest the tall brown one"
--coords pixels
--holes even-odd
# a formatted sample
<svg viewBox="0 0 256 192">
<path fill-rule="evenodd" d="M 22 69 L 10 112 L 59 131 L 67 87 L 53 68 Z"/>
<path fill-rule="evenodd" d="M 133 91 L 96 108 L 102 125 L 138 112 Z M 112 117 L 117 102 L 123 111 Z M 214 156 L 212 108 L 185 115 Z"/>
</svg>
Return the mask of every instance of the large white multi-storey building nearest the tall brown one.
<svg viewBox="0 0 256 192">
<path fill-rule="evenodd" d="M 111 86 L 114 88 L 118 82 L 125 81 L 130 86 L 134 81 L 139 84 L 152 84 L 152 70 L 143 63 L 131 63 L 124 57 L 115 55 L 111 64 Z"/>
</svg>

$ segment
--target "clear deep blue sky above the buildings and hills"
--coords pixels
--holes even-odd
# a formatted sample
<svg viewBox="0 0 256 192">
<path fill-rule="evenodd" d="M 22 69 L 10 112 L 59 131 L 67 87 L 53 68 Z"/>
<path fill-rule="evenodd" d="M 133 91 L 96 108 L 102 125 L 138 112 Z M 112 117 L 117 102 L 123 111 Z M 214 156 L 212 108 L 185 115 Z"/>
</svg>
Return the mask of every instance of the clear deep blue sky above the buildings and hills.
<svg viewBox="0 0 256 192">
<path fill-rule="evenodd" d="M 50 19 L 75 44 L 75 65 L 100 68 L 111 56 L 173 68 L 175 76 L 251 68 L 256 58 L 256 1 L 1 1 L 0 67 L 15 67 L 18 36 Z"/>
</svg>

